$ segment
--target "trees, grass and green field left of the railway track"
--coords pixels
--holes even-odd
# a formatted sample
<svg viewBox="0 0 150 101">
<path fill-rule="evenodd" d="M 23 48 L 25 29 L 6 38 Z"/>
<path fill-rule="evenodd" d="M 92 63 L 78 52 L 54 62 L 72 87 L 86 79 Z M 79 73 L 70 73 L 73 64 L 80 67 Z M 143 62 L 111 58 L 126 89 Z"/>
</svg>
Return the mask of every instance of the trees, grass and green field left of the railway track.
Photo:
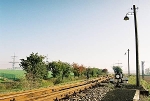
<svg viewBox="0 0 150 101">
<path fill-rule="evenodd" d="M 44 56 L 38 55 L 38 53 L 32 53 L 26 59 L 21 59 L 20 66 L 23 70 L 0 70 L 2 73 L 0 75 L 0 93 L 65 84 L 106 75 L 108 72 L 107 69 L 87 68 L 77 63 L 69 64 L 62 61 L 46 63 Z"/>
</svg>

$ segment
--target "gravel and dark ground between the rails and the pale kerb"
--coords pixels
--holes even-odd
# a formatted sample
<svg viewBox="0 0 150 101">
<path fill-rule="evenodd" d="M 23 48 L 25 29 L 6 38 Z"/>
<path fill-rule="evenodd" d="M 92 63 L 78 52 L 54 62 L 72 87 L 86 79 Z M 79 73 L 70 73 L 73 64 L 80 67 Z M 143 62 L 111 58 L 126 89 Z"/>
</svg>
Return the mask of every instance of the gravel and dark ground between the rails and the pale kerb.
<svg viewBox="0 0 150 101">
<path fill-rule="evenodd" d="M 116 88 L 109 83 L 98 84 L 91 89 L 76 93 L 60 101 L 133 101 L 135 91 L 133 89 Z"/>
</svg>

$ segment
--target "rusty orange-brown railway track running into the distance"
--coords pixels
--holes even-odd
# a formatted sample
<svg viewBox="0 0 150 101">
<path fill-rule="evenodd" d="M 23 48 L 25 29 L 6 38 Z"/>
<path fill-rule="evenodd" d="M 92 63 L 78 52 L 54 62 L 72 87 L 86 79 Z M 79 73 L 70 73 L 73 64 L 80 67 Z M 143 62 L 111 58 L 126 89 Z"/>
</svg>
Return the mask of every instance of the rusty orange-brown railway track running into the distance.
<svg viewBox="0 0 150 101">
<path fill-rule="evenodd" d="M 97 83 L 107 81 L 110 78 L 113 78 L 113 76 L 102 76 L 93 80 L 86 80 L 74 84 L 2 94 L 0 95 L 0 101 L 57 101 L 66 96 L 91 88 Z"/>
</svg>

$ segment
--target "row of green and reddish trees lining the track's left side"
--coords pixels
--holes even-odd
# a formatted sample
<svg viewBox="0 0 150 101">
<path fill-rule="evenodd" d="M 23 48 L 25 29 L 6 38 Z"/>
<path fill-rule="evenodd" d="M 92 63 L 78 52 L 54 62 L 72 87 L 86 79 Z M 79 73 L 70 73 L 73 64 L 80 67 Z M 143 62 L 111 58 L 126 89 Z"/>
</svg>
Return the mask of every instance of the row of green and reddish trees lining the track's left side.
<svg viewBox="0 0 150 101">
<path fill-rule="evenodd" d="M 21 59 L 20 66 L 26 71 L 26 78 L 28 80 L 36 81 L 39 79 L 47 79 L 49 71 L 51 71 L 53 78 L 61 77 L 61 79 L 69 77 L 71 74 L 73 74 L 74 77 L 86 76 L 89 78 L 108 73 L 107 69 L 86 68 L 77 63 L 69 64 L 62 61 L 46 63 L 44 59 L 45 57 L 38 55 L 38 53 L 32 53 L 26 59 Z"/>
</svg>

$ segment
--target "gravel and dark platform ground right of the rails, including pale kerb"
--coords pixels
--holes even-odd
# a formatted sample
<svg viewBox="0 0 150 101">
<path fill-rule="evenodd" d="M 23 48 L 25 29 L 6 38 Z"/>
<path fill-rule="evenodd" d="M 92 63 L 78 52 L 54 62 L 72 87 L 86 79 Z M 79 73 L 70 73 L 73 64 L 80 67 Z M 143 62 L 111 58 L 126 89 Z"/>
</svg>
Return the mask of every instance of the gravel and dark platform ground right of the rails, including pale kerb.
<svg viewBox="0 0 150 101">
<path fill-rule="evenodd" d="M 120 88 L 110 83 L 99 83 L 92 88 L 83 90 L 60 101 L 148 101 L 142 86 L 122 84 Z"/>
</svg>

